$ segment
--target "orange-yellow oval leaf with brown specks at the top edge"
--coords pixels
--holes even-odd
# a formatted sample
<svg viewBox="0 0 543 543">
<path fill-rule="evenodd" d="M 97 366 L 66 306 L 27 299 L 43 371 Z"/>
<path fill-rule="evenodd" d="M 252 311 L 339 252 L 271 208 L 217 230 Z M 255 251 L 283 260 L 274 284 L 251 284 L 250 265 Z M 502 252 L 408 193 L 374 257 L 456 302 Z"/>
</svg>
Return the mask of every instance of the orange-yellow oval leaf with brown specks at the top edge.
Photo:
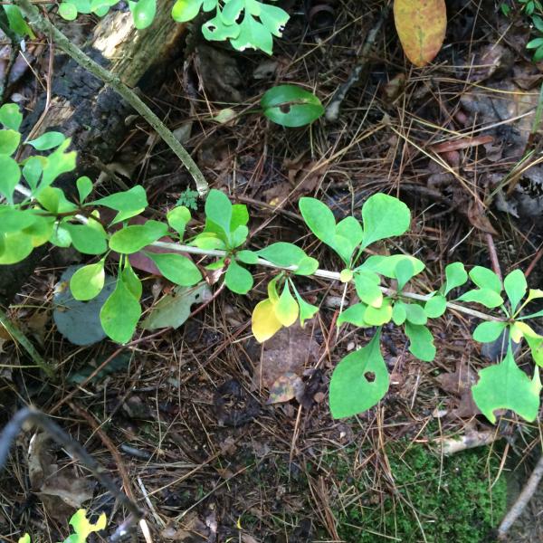
<svg viewBox="0 0 543 543">
<path fill-rule="evenodd" d="M 395 0 L 394 20 L 405 56 L 418 67 L 432 62 L 447 29 L 445 0 Z"/>
</svg>

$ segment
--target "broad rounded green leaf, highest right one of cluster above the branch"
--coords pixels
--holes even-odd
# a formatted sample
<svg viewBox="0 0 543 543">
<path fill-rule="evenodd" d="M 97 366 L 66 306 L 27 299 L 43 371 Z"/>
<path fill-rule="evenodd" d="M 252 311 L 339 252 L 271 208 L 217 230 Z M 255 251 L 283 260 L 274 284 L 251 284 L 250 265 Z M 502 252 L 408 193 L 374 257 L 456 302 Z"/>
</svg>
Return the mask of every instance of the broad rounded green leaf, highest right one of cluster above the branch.
<svg viewBox="0 0 543 543">
<path fill-rule="evenodd" d="M 376 194 L 367 198 L 362 206 L 362 221 L 362 246 L 367 247 L 377 240 L 407 232 L 411 224 L 411 212 L 404 202 L 394 196 Z"/>
</svg>

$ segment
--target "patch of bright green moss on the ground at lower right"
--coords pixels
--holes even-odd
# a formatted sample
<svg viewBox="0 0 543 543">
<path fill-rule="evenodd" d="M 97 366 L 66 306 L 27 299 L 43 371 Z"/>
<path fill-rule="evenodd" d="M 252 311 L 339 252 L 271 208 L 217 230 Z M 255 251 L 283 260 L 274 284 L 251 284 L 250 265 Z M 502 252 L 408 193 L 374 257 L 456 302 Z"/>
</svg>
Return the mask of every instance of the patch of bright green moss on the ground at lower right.
<svg viewBox="0 0 543 543">
<path fill-rule="evenodd" d="M 348 543 L 483 543 L 505 513 L 507 483 L 494 484 L 499 459 L 488 449 L 436 456 L 423 446 L 395 443 L 387 450 L 394 478 L 381 483 L 353 473 L 353 455 L 336 456 L 331 468 L 341 484 L 338 535 Z M 348 461 L 350 458 L 350 462 Z M 424 534 L 424 535 L 423 535 Z M 392 539 L 391 539 L 392 538 Z"/>
</svg>

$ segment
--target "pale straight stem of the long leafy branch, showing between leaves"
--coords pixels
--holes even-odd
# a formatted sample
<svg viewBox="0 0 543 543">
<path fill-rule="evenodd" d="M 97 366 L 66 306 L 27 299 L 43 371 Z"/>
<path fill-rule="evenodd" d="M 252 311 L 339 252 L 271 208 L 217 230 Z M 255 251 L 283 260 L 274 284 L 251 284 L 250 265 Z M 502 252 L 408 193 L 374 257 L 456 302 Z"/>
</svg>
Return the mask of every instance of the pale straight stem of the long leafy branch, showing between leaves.
<svg viewBox="0 0 543 543">
<path fill-rule="evenodd" d="M 200 249 L 199 247 L 192 247 L 191 245 L 182 245 L 180 243 L 155 242 L 155 243 L 151 243 L 151 245 L 153 247 L 167 249 L 168 251 L 188 252 L 190 254 L 199 254 L 201 256 L 215 256 L 217 258 L 223 258 L 224 256 L 228 255 L 228 252 L 223 251 L 221 249 Z M 260 266 L 265 266 L 267 268 L 273 268 L 275 270 L 287 270 L 287 271 L 296 270 L 295 267 L 285 268 L 283 266 L 278 266 L 270 261 L 264 260 L 263 258 L 259 258 L 257 264 Z M 321 277 L 322 279 L 326 279 L 328 281 L 340 281 L 338 271 L 317 270 L 315 271 L 315 273 L 313 273 L 313 275 L 315 277 Z M 386 287 L 381 287 L 381 291 L 383 291 L 383 293 L 388 296 L 396 294 L 396 291 L 394 291 L 393 289 L 387 289 Z M 418 300 L 418 301 L 427 301 L 427 300 L 430 300 L 430 298 L 432 298 L 432 294 L 416 294 L 414 292 L 402 292 L 401 296 L 408 300 Z M 478 319 L 501 320 L 498 317 L 494 317 L 493 315 L 488 315 L 487 313 L 482 313 L 481 311 L 472 310 L 470 308 L 464 308 L 463 306 L 453 303 L 451 301 L 447 302 L 447 307 L 451 310 L 460 311 L 461 313 L 465 313 L 466 315 L 477 317 Z"/>
</svg>

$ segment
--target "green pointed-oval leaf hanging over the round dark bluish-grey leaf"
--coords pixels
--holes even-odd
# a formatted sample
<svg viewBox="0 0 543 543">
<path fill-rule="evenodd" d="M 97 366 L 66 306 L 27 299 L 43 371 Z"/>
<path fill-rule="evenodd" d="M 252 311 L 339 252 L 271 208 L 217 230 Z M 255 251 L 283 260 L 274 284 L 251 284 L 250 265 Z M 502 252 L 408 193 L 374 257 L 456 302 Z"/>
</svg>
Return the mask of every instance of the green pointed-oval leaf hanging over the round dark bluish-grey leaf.
<svg viewBox="0 0 543 543">
<path fill-rule="evenodd" d="M 129 291 L 122 277 L 117 278 L 115 291 L 100 310 L 100 322 L 109 338 L 117 343 L 127 343 L 136 331 L 141 317 L 138 300 Z"/>
</svg>

